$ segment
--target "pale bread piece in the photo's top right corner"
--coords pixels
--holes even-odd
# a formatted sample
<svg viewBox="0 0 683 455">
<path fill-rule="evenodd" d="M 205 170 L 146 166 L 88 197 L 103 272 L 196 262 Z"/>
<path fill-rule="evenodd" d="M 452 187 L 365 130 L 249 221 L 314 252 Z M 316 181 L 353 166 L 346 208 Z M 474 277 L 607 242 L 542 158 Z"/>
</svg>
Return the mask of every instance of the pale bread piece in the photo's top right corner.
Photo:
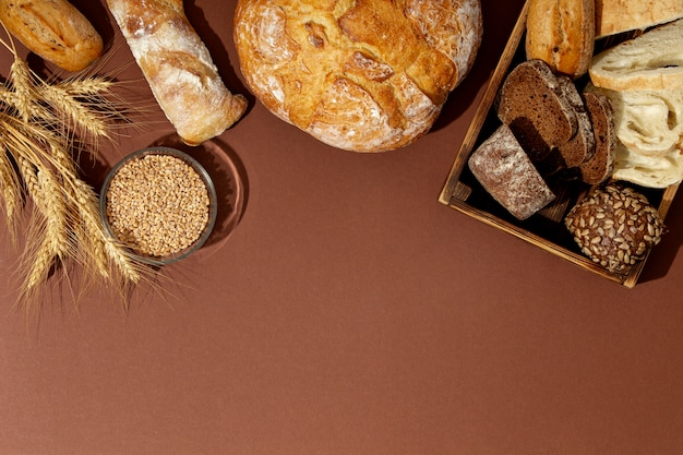
<svg viewBox="0 0 683 455">
<path fill-rule="evenodd" d="M 683 17 L 681 0 L 595 0 L 596 38 Z"/>
</svg>

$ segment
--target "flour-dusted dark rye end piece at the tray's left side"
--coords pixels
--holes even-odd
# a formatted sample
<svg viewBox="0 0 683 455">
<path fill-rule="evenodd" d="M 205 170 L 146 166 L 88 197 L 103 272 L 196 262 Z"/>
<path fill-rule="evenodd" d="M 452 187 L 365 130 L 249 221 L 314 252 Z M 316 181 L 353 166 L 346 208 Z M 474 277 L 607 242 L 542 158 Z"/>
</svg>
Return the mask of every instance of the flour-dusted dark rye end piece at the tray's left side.
<svg viewBox="0 0 683 455">
<path fill-rule="evenodd" d="M 555 199 L 505 124 L 477 147 L 468 166 L 484 190 L 517 219 L 530 217 Z"/>
</svg>

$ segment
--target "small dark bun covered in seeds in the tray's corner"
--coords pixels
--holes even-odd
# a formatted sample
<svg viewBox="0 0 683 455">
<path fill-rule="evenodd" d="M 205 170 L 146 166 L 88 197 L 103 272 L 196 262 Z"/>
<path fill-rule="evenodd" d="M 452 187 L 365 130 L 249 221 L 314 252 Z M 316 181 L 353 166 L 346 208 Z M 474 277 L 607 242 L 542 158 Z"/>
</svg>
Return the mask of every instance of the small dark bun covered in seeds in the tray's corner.
<svg viewBox="0 0 683 455">
<path fill-rule="evenodd" d="M 565 218 L 582 252 L 609 272 L 627 272 L 659 243 L 659 212 L 637 191 L 610 183 L 596 189 Z"/>
</svg>

